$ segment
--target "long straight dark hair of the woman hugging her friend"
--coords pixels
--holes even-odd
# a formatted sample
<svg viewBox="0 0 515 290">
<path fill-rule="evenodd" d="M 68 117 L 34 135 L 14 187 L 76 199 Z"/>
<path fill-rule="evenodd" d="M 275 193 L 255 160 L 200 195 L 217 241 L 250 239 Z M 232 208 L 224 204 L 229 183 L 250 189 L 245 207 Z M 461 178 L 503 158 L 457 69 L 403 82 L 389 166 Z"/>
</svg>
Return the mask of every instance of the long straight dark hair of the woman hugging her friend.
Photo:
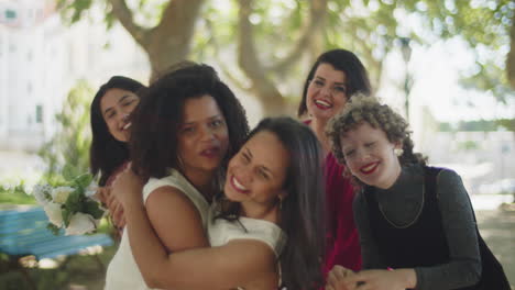
<svg viewBox="0 0 515 290">
<path fill-rule="evenodd" d="M 249 138 L 267 131 L 289 152 L 280 226 L 287 242 L 278 259 L 282 281 L 288 289 L 317 289 L 322 286 L 321 260 L 325 248 L 324 179 L 320 144 L 313 131 L 292 118 L 266 118 Z M 226 200 L 227 202 L 227 200 Z M 218 217 L 230 221 L 241 214 L 239 202 L 227 202 Z"/>
</svg>

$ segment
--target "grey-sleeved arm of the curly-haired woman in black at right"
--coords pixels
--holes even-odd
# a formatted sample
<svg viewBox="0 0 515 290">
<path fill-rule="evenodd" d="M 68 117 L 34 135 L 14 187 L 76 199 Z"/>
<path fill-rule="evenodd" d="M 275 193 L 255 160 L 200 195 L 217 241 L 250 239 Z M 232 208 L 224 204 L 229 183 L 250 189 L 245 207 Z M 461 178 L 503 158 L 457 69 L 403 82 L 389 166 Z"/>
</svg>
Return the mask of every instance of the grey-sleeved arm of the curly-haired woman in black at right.
<svg viewBox="0 0 515 290">
<path fill-rule="evenodd" d="M 416 268 L 419 281 L 417 289 L 472 286 L 481 276 L 481 257 L 469 194 L 454 171 L 441 170 L 437 180 L 438 205 L 449 245 L 450 261 L 435 267 Z"/>
</svg>

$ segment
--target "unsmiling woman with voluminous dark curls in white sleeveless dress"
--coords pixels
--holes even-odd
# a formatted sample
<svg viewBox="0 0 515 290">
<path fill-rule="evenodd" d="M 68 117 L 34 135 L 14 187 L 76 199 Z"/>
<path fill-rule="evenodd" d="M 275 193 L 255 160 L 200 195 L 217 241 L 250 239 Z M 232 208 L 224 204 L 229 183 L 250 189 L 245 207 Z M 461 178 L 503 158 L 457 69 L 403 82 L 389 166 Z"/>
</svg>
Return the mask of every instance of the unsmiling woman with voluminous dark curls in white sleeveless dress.
<svg viewBox="0 0 515 290">
<path fill-rule="evenodd" d="M 165 253 L 208 246 L 204 224 L 209 203 L 221 189 L 229 156 L 249 132 L 244 110 L 206 65 L 169 72 L 142 94 L 130 147 L 132 168 L 147 180 L 144 203 L 141 190 L 139 198 L 149 228 Z M 132 254 L 151 246 L 130 244 L 124 231 L 106 289 L 147 289 Z"/>
</svg>

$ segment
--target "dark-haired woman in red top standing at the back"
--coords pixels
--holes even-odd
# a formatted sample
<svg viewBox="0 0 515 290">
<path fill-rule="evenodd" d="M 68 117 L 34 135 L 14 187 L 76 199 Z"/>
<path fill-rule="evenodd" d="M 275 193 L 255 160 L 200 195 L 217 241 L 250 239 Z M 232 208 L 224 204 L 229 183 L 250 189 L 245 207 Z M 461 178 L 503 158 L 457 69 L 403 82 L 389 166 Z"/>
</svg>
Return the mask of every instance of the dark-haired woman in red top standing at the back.
<svg viewBox="0 0 515 290">
<path fill-rule="evenodd" d="M 321 54 L 313 65 L 298 107 L 298 116 L 306 118 L 305 123 L 315 132 L 326 154 L 325 275 L 335 265 L 361 269 L 360 244 L 352 215 L 352 186 L 342 176 L 344 168 L 336 161 L 325 134 L 329 119 L 341 111 L 357 92 L 371 93 L 366 69 L 353 53 L 332 49 Z"/>
</svg>

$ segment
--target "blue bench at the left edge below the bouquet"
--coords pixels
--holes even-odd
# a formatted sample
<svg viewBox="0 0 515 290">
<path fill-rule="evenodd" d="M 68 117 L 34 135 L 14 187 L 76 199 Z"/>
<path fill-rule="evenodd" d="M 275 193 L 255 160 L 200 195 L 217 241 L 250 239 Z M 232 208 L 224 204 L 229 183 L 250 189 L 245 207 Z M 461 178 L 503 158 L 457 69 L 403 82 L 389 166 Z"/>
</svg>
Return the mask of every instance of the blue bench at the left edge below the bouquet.
<svg viewBox="0 0 515 290">
<path fill-rule="evenodd" d="M 40 207 L 0 211 L 0 253 L 18 263 L 24 256 L 33 255 L 40 260 L 113 244 L 106 234 L 66 236 L 63 230 L 59 235 L 54 235 L 46 228 L 47 224 L 48 217 Z M 24 271 L 23 267 L 21 270 Z M 30 279 L 26 271 L 24 275 Z M 33 285 L 32 281 L 30 283 Z"/>
</svg>

